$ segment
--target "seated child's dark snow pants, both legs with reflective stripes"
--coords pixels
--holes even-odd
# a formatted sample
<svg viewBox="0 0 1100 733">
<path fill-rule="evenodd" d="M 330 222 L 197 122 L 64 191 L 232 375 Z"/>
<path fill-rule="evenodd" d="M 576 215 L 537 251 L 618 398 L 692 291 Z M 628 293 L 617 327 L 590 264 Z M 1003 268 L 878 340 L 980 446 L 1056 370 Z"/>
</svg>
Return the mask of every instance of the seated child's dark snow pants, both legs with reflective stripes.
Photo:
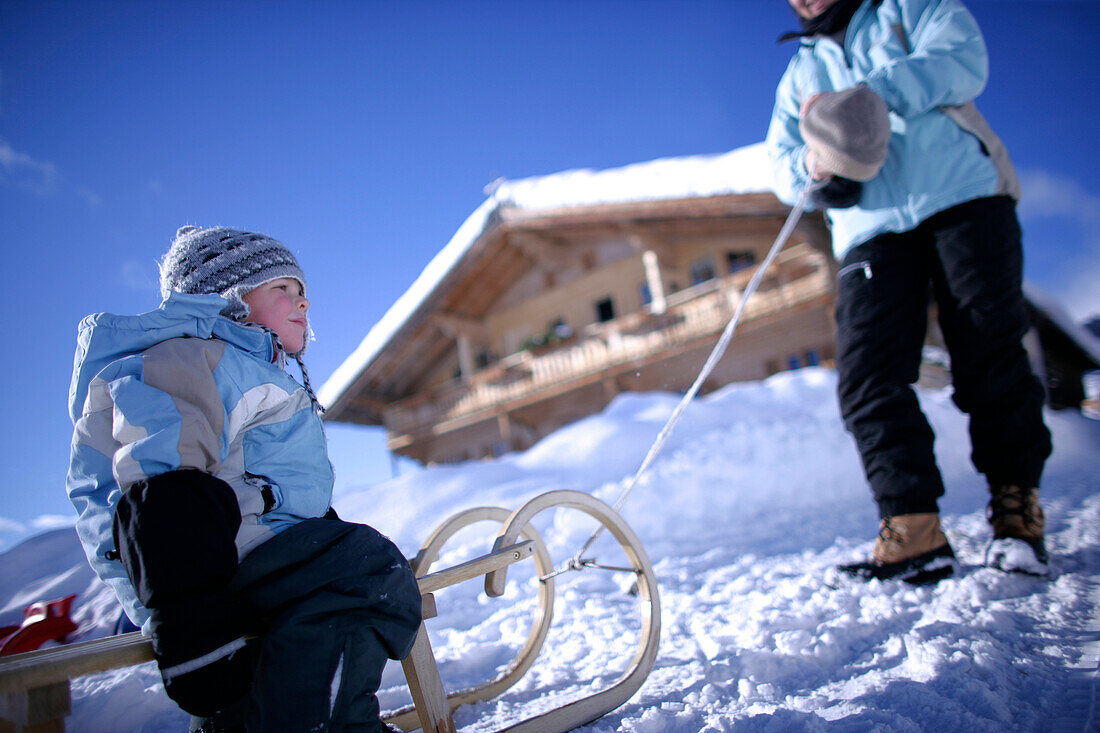
<svg viewBox="0 0 1100 733">
<path fill-rule="evenodd" d="M 194 730 L 384 730 L 383 667 L 420 626 L 408 561 L 372 527 L 320 517 L 238 565 L 239 524 L 229 485 L 194 470 L 135 484 L 116 511 L 168 696 Z"/>
</svg>

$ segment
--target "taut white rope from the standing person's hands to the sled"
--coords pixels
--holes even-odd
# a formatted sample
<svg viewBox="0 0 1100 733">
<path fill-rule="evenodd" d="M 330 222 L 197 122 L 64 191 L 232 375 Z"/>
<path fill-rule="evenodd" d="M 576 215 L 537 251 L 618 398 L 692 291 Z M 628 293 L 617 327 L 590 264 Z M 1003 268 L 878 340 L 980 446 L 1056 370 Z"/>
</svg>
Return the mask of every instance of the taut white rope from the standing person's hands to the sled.
<svg viewBox="0 0 1100 733">
<path fill-rule="evenodd" d="M 726 324 L 725 330 L 722 332 L 722 338 L 719 338 L 718 342 L 714 346 L 714 349 L 711 351 L 711 355 L 707 357 L 706 363 L 703 364 L 703 369 L 700 371 L 698 376 L 695 378 L 695 382 L 691 385 L 691 389 L 688 390 L 686 394 L 684 394 L 680 404 L 676 405 L 674 411 L 672 411 L 672 416 L 669 417 L 668 423 L 664 424 L 664 427 L 661 428 L 661 431 L 657 435 L 657 439 L 653 441 L 652 447 L 650 447 L 649 452 L 646 453 L 646 458 L 641 461 L 641 466 L 638 467 L 638 470 L 627 482 L 623 492 L 619 494 L 618 500 L 613 505 L 616 512 L 623 508 L 627 496 L 630 495 L 630 492 L 634 491 L 634 488 L 638 484 L 638 479 L 641 478 L 641 474 L 646 472 L 657 458 L 657 455 L 661 451 L 661 448 L 664 447 L 664 442 L 669 439 L 669 436 L 672 434 L 672 429 L 676 426 L 676 423 L 680 422 L 680 417 L 683 415 L 684 409 L 688 408 L 688 404 L 694 400 L 695 395 L 703 386 L 703 383 L 706 381 L 706 378 L 711 375 L 711 372 L 714 371 L 714 368 L 717 365 L 723 354 L 726 353 L 729 340 L 734 338 L 734 331 L 737 330 L 737 324 L 740 321 L 741 314 L 745 311 L 745 305 L 749 302 L 749 298 L 752 297 L 757 287 L 759 287 L 765 273 L 787 244 L 787 240 L 791 238 L 791 232 L 794 231 L 794 227 L 799 223 L 799 219 L 802 217 L 802 212 L 806 208 L 806 200 L 810 197 L 810 193 L 820 185 L 821 184 L 815 185 L 811 183 L 802 189 L 802 193 L 799 195 L 799 200 L 794 204 L 794 208 L 792 208 L 791 212 L 787 216 L 787 221 L 783 222 L 782 229 L 779 230 L 779 234 L 776 237 L 776 241 L 771 245 L 771 250 L 768 251 L 768 256 L 766 256 L 763 262 L 760 263 L 760 266 L 757 267 L 756 274 L 752 276 L 752 280 L 749 281 L 748 286 L 746 286 L 745 294 L 741 296 L 740 303 L 737 304 L 737 309 L 734 311 L 733 318 L 729 319 L 729 322 Z M 580 568 L 585 567 L 585 564 L 581 558 L 592 548 L 592 545 L 604 533 L 604 529 L 605 527 L 600 525 L 600 527 L 592 533 L 592 536 L 588 537 L 587 541 L 585 541 L 576 555 L 570 559 L 565 569 L 579 570 Z M 559 575 L 563 571 L 564 569 L 558 570 L 551 575 Z"/>
</svg>

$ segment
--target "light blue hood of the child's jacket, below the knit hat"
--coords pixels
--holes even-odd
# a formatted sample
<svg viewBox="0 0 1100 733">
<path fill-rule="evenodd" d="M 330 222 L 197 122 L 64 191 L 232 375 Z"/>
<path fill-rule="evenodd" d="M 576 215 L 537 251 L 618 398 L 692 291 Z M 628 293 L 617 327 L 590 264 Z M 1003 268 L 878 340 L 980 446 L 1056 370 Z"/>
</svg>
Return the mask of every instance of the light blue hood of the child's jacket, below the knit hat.
<svg viewBox="0 0 1100 733">
<path fill-rule="evenodd" d="M 221 315 L 227 305 L 220 295 L 169 293 L 156 308 L 136 316 L 97 313 L 77 327 L 73 381 L 69 384 L 69 417 L 75 424 L 84 412 L 88 384 L 105 366 L 124 357 L 142 353 L 175 338 L 217 338 L 274 363 L 279 353 L 270 333 Z"/>
</svg>

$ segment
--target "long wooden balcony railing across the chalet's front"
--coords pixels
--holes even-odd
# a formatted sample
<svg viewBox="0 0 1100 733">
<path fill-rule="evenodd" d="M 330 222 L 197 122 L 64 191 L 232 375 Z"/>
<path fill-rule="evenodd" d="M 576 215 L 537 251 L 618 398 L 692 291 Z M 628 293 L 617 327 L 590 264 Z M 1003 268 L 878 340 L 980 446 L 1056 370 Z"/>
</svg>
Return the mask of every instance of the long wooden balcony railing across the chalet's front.
<svg viewBox="0 0 1100 733">
<path fill-rule="evenodd" d="M 430 392 L 396 402 L 386 409 L 394 434 L 418 433 L 479 413 L 507 408 L 569 383 L 584 383 L 616 368 L 657 359 L 670 349 L 718 333 L 737 307 L 756 267 L 715 278 L 672 294 L 663 314 L 632 313 L 585 327 L 570 342 L 535 354 L 520 351 Z M 832 289 L 826 258 L 809 244 L 784 251 L 745 308 L 743 321 L 813 302 Z"/>
</svg>

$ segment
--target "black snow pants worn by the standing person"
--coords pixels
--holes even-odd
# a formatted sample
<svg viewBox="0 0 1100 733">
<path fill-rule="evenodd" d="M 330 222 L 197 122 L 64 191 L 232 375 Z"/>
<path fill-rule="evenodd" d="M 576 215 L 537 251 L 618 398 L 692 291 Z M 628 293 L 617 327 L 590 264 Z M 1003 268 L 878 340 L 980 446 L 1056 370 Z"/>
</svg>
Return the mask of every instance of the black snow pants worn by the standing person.
<svg viewBox="0 0 1100 733">
<path fill-rule="evenodd" d="M 837 285 L 840 413 L 881 516 L 936 512 L 944 483 L 912 384 L 930 292 L 969 416 L 971 460 L 991 485 L 1037 486 L 1050 453 L 1043 387 L 1022 339 L 1028 317 L 1015 204 L 968 201 L 850 250 Z"/>
</svg>

